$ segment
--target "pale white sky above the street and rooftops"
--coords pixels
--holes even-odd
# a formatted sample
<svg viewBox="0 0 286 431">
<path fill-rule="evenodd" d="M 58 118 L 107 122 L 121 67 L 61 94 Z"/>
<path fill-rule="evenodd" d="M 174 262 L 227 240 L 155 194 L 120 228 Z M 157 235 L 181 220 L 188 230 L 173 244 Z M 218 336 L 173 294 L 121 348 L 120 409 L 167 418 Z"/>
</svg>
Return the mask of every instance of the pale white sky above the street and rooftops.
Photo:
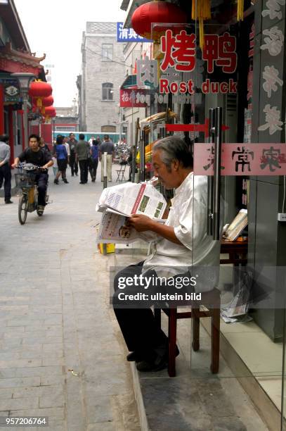
<svg viewBox="0 0 286 431">
<path fill-rule="evenodd" d="M 52 64 L 54 106 L 72 106 L 86 21 L 124 21 L 122 0 L 14 0 L 32 52 Z"/>
</svg>

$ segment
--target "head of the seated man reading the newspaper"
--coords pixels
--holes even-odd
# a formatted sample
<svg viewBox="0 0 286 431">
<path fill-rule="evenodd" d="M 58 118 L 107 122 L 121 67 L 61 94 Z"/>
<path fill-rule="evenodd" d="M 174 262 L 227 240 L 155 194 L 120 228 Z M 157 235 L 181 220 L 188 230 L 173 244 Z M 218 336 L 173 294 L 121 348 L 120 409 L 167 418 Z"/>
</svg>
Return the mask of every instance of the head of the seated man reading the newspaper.
<svg viewBox="0 0 286 431">
<path fill-rule="evenodd" d="M 182 184 L 183 180 L 193 171 L 193 156 L 186 142 L 174 136 L 160 141 L 152 148 L 152 164 L 154 175 L 167 189 Z"/>
</svg>

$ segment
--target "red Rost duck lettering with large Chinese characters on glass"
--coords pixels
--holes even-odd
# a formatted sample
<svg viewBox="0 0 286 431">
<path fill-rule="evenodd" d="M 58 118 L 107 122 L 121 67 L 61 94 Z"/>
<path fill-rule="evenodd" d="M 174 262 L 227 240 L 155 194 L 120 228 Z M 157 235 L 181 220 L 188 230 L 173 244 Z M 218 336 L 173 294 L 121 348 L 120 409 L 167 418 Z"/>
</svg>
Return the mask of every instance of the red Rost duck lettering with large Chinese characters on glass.
<svg viewBox="0 0 286 431">
<path fill-rule="evenodd" d="M 196 58 L 196 48 L 194 33 L 188 35 L 186 30 L 181 30 L 179 34 L 174 34 L 172 30 L 166 30 L 160 40 L 160 73 L 156 60 L 146 57 L 137 61 L 138 86 L 159 87 L 160 94 L 195 94 L 195 89 L 200 89 L 203 94 L 236 94 L 238 83 L 233 77 L 223 82 L 212 82 L 209 78 L 203 82 L 201 79 L 204 65 L 208 74 L 214 73 L 215 66 L 221 68 L 226 77 L 235 73 L 238 65 L 235 36 L 228 32 L 205 35 L 202 60 Z"/>
</svg>

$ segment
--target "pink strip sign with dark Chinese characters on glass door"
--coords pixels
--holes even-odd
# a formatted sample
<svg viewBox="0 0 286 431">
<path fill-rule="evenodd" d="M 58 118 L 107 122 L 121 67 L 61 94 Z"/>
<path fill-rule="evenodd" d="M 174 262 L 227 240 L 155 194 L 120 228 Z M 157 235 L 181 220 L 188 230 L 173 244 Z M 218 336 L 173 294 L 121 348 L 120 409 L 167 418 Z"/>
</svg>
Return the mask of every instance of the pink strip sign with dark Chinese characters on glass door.
<svg viewBox="0 0 286 431">
<path fill-rule="evenodd" d="M 214 175 L 214 144 L 195 144 L 194 174 Z M 222 144 L 221 175 L 286 175 L 286 145 Z"/>
</svg>

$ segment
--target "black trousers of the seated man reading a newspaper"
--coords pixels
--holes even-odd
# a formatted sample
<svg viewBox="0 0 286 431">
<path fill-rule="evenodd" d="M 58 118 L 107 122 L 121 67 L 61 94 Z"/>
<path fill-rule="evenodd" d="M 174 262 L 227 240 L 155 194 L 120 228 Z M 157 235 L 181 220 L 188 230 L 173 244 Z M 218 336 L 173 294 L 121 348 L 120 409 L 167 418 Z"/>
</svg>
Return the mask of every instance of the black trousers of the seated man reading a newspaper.
<svg viewBox="0 0 286 431">
<path fill-rule="evenodd" d="M 132 304 L 132 308 L 121 308 L 122 306 L 128 306 L 128 302 L 122 304 L 122 301 L 118 297 L 122 292 L 124 294 L 144 292 L 141 287 L 138 289 L 135 286 L 125 287 L 124 289 L 118 288 L 119 277 L 140 275 L 142 266 L 143 262 L 140 262 L 137 265 L 127 266 L 124 270 L 117 273 L 114 282 L 115 294 L 112 297 L 112 305 L 127 348 L 129 351 L 136 351 L 136 353 L 148 360 L 153 359 L 155 355 L 164 356 L 166 354 L 168 338 L 161 328 L 158 327 L 150 308 L 133 308 L 134 304 L 136 305 L 135 301 L 130 303 Z M 152 273 L 155 272 L 153 271 Z M 148 275 L 152 274 L 148 273 Z M 152 301 L 148 304 L 145 303 L 145 306 L 152 306 Z"/>
</svg>

